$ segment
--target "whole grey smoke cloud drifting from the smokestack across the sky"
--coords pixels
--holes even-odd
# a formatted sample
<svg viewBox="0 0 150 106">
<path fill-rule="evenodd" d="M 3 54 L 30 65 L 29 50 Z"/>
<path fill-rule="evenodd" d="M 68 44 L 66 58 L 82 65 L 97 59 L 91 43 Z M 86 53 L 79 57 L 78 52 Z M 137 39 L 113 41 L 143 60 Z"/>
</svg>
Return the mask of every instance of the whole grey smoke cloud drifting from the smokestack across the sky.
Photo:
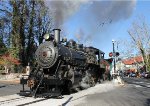
<svg viewBox="0 0 150 106">
<path fill-rule="evenodd" d="M 78 41 L 84 41 L 83 38 L 93 38 L 99 33 L 98 27 L 128 19 L 135 9 L 136 0 L 45 0 L 45 4 L 49 7 L 56 28 L 62 28 L 71 16 L 80 13 L 78 24 L 86 27 L 77 27 L 78 33 L 75 32 L 75 37 Z"/>
</svg>

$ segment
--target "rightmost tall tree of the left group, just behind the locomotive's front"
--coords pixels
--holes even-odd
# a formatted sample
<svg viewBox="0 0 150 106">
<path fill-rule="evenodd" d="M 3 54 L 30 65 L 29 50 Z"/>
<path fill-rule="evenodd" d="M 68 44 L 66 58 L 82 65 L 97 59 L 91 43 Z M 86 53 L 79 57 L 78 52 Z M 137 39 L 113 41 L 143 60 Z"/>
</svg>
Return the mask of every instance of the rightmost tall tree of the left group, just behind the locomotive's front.
<svg viewBox="0 0 150 106">
<path fill-rule="evenodd" d="M 35 53 L 37 43 L 42 43 L 43 36 L 51 31 L 51 18 L 48 14 L 48 8 L 45 6 L 44 1 L 29 2 L 29 24 L 27 35 L 27 49 L 26 49 L 26 61 L 33 61 L 33 54 Z"/>
</svg>

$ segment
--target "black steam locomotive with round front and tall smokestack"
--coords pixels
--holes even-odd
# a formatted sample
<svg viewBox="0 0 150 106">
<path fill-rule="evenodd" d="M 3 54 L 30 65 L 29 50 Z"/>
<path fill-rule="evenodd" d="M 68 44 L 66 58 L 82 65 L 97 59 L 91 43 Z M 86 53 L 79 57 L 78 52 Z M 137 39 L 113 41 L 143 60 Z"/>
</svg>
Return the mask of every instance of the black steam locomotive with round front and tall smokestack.
<svg viewBox="0 0 150 106">
<path fill-rule="evenodd" d="M 37 64 L 27 78 L 20 83 L 27 84 L 30 95 L 34 97 L 60 96 L 76 88 L 94 86 L 102 78 L 105 67 L 100 61 L 104 52 L 94 47 L 83 47 L 74 40 L 62 39 L 60 29 L 54 35 L 46 34 L 45 42 L 37 48 Z"/>
</svg>

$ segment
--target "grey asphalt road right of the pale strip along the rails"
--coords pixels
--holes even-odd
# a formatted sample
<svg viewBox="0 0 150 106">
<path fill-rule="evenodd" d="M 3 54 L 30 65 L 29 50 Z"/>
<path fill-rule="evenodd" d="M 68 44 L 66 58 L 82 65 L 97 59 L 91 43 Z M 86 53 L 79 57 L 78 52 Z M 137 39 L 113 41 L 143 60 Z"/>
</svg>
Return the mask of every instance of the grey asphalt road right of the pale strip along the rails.
<svg viewBox="0 0 150 106">
<path fill-rule="evenodd" d="M 125 86 L 88 95 L 84 103 L 76 106 L 150 106 L 150 79 L 124 78 L 124 81 Z"/>
</svg>

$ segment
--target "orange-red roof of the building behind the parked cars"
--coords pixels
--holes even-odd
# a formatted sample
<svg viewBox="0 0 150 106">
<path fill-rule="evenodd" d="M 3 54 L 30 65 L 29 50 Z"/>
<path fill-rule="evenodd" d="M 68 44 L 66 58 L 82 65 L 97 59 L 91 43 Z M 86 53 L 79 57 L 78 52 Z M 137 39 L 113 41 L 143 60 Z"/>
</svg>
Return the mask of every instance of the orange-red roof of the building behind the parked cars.
<svg viewBox="0 0 150 106">
<path fill-rule="evenodd" d="M 124 59 L 124 60 L 122 60 L 122 62 L 125 65 L 132 65 L 132 64 L 143 62 L 143 58 L 142 58 L 142 56 L 136 56 L 136 57 L 132 57 L 132 58 L 129 58 L 129 59 Z"/>
</svg>

